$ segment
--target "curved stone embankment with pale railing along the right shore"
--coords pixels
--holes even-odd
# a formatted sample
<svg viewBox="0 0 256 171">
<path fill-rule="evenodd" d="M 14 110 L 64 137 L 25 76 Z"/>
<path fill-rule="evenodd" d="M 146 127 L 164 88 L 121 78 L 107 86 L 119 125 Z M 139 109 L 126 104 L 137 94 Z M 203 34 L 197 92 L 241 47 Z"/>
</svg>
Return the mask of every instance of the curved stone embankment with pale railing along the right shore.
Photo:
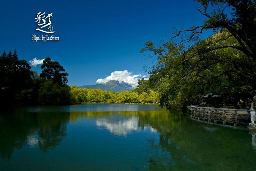
<svg viewBox="0 0 256 171">
<path fill-rule="evenodd" d="M 233 108 L 209 108 L 202 106 L 189 106 L 193 117 L 210 119 L 214 122 L 247 124 L 249 129 L 256 130 L 256 116 L 255 111 L 247 109 L 233 109 Z M 255 122 L 255 123 L 254 123 Z"/>
</svg>

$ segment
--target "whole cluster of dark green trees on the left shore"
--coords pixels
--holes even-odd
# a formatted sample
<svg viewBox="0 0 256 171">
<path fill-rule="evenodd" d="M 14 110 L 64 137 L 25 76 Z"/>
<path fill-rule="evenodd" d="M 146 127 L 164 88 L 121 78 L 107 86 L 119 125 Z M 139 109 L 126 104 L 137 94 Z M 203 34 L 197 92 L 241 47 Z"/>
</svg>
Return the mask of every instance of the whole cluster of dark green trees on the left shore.
<svg viewBox="0 0 256 171">
<path fill-rule="evenodd" d="M 45 58 L 40 76 L 25 60 L 18 60 L 16 50 L 0 56 L 1 105 L 59 105 L 70 103 L 68 73 L 58 62 Z M 84 93 L 83 93 L 84 94 Z M 81 97 L 82 98 L 82 97 Z M 83 101 L 83 100 L 80 100 Z M 85 100 L 84 100 L 85 101 Z"/>
</svg>

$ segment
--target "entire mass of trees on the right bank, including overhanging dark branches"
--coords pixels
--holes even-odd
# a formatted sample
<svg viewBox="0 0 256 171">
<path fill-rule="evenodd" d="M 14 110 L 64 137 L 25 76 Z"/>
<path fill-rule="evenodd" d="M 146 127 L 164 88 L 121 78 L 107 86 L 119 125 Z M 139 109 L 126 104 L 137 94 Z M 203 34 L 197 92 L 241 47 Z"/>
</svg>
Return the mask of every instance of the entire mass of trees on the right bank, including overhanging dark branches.
<svg viewBox="0 0 256 171">
<path fill-rule="evenodd" d="M 254 94 L 256 99 L 256 5 L 254 1 L 196 0 L 208 19 L 202 26 L 175 30 L 171 39 L 156 46 L 145 42 L 141 53 L 151 51 L 157 63 L 149 69 L 149 81 L 157 85 L 161 106 L 183 106 L 200 101 L 207 91 Z M 208 12 L 208 8 L 213 9 Z M 226 11 L 232 11 L 228 15 Z M 199 34 L 216 33 L 201 40 Z M 210 93 L 210 92 L 208 92 Z M 234 95 L 230 94 L 230 95 Z M 252 96 L 252 97 L 253 97 Z M 240 96 L 241 97 L 241 96 Z M 252 105 L 251 105 L 252 106 Z"/>
</svg>

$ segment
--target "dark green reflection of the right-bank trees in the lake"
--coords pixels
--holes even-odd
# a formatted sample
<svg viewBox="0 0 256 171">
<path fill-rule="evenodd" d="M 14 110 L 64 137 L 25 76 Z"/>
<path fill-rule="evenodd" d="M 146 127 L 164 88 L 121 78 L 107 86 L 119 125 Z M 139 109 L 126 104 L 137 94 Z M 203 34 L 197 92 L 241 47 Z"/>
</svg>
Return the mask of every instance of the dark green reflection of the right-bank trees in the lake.
<svg viewBox="0 0 256 171">
<path fill-rule="evenodd" d="M 159 139 L 147 139 L 151 158 L 156 160 L 149 162 L 148 170 L 237 170 L 253 161 L 253 157 L 234 159 L 237 163 L 232 161 L 237 158 L 234 156 L 244 154 L 245 149 L 252 151 L 251 137 L 246 131 L 198 124 L 190 120 L 189 115 L 177 112 L 139 115 L 141 128 L 150 126 L 160 133 Z M 227 162 L 233 162 L 232 167 Z"/>
</svg>

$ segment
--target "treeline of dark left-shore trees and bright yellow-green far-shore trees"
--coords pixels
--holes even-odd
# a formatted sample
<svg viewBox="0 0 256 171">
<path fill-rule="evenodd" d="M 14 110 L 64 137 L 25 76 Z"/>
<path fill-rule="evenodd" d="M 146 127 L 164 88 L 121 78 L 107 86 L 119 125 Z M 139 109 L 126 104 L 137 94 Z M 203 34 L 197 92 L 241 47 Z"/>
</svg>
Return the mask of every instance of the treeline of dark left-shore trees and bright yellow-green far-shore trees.
<svg viewBox="0 0 256 171">
<path fill-rule="evenodd" d="M 0 56 L 0 92 L 2 106 L 67 105 L 80 103 L 157 103 L 159 94 L 142 85 L 131 91 L 114 92 L 68 86 L 68 73 L 58 62 L 46 57 L 42 73 L 31 71 L 25 60 L 18 60 L 14 50 Z"/>
</svg>

